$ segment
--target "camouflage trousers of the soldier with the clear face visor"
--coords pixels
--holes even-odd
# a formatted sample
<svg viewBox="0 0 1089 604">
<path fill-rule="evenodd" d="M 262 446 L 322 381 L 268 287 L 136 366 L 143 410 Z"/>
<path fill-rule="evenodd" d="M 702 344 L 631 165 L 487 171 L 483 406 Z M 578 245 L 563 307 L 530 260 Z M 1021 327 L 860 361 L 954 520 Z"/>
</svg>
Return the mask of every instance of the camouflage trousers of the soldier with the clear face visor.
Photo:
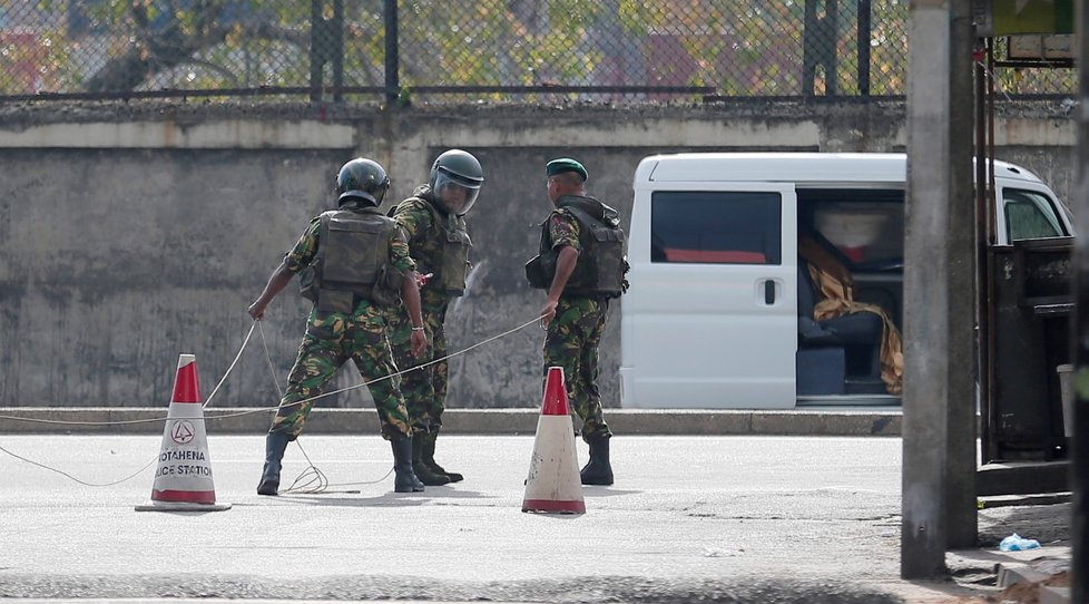
<svg viewBox="0 0 1089 604">
<path fill-rule="evenodd" d="M 393 359 L 402 371 L 441 359 L 447 355 L 447 334 L 443 322 L 447 319 L 447 302 L 424 303 L 423 329 L 428 334 L 428 350 L 418 359 L 412 355 L 409 339 L 412 337 L 412 322 L 401 309 L 390 320 L 390 345 Z M 401 376 L 401 392 L 409 410 L 409 419 L 414 435 L 438 430 L 442 426 L 442 411 L 447 402 L 447 361 L 415 369 Z"/>
</svg>

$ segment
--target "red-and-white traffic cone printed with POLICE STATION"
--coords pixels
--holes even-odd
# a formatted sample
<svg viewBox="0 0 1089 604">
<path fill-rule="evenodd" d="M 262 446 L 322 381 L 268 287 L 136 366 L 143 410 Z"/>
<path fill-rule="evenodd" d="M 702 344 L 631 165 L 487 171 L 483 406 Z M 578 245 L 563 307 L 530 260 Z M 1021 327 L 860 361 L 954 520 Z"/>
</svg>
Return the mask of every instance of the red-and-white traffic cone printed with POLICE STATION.
<svg viewBox="0 0 1089 604">
<path fill-rule="evenodd" d="M 174 396 L 163 429 L 159 465 L 155 470 L 151 500 L 137 512 L 222 512 L 230 504 L 216 503 L 212 457 L 204 430 L 200 382 L 193 354 L 178 357 Z"/>
</svg>

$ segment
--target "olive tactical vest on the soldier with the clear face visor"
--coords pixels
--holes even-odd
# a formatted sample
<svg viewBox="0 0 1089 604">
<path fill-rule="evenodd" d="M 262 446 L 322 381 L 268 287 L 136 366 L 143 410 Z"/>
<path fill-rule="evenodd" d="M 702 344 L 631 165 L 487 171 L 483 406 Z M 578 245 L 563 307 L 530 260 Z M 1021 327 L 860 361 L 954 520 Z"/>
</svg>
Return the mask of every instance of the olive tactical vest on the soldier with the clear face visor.
<svg viewBox="0 0 1089 604">
<path fill-rule="evenodd" d="M 412 260 L 421 274 L 433 273 L 426 288 L 450 295 L 465 294 L 465 280 L 469 277 L 469 249 L 472 241 L 465 230 L 465 220 L 453 214 L 443 214 L 423 197 L 409 197 L 405 202 L 419 201 L 431 212 L 434 232 L 432 245 L 413 245 L 409 242 Z M 398 206 L 400 207 L 400 205 Z"/>
</svg>

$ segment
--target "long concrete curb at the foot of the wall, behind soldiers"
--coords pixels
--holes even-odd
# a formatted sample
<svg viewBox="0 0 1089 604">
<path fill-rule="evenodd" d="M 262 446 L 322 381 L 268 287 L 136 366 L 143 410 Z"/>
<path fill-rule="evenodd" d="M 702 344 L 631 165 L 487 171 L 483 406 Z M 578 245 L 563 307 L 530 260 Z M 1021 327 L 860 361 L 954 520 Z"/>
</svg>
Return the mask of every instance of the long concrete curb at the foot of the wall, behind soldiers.
<svg viewBox="0 0 1089 604">
<path fill-rule="evenodd" d="M 166 409 L 105 407 L 0 407 L 0 433 L 161 433 Z M 538 409 L 447 409 L 444 433 L 532 435 Z M 273 411 L 264 408 L 205 409 L 208 431 L 265 433 Z M 831 410 L 635 410 L 606 409 L 618 435 L 688 436 L 901 436 L 900 409 Z M 307 433 L 379 431 L 374 409 L 314 409 Z"/>
</svg>

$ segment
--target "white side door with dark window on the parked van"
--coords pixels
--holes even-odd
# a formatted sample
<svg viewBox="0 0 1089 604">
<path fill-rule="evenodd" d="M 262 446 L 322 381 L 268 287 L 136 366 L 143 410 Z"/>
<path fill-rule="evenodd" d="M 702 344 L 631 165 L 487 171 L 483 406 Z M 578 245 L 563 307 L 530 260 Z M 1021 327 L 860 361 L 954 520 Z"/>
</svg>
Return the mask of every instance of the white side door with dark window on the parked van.
<svg viewBox="0 0 1089 604">
<path fill-rule="evenodd" d="M 626 405 L 794 407 L 794 188 L 710 185 L 718 186 L 670 183 L 644 197 L 649 213 L 637 201 L 632 232 L 648 228 L 649 240 L 636 250 L 647 240 L 634 234 L 628 250 L 622 348 L 635 391 Z"/>
</svg>

